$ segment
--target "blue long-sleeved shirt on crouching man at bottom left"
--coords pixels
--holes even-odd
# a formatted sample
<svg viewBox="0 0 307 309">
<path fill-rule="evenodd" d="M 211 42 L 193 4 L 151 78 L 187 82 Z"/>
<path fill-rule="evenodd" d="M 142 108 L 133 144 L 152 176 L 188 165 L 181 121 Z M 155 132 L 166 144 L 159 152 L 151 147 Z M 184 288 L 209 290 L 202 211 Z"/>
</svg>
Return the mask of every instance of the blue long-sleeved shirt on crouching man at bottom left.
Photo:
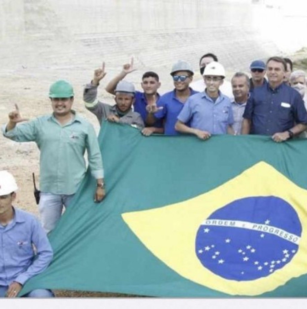
<svg viewBox="0 0 307 309">
<path fill-rule="evenodd" d="M 6 226 L 0 224 L 0 286 L 13 281 L 23 285 L 46 269 L 52 256 L 47 235 L 33 215 L 14 209 L 13 220 Z"/>
</svg>

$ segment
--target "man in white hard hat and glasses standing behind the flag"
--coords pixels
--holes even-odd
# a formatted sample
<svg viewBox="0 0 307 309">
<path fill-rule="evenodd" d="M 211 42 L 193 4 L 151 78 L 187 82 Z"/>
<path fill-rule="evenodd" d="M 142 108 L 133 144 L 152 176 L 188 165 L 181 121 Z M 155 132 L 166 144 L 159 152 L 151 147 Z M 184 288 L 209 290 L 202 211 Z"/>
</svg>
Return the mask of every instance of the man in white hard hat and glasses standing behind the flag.
<svg viewBox="0 0 307 309">
<path fill-rule="evenodd" d="M 206 89 L 188 99 L 177 117 L 177 131 L 194 134 L 202 140 L 210 138 L 211 134 L 234 134 L 230 99 L 219 91 L 224 78 L 225 69 L 220 63 L 213 61 L 206 66 Z"/>
</svg>

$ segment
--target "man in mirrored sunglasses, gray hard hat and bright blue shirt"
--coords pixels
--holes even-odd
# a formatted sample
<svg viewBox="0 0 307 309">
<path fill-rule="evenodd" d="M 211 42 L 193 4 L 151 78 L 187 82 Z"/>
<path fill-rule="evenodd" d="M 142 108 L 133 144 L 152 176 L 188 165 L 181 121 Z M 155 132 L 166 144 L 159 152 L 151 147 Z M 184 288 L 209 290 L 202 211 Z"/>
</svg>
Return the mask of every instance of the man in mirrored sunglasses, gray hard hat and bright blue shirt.
<svg viewBox="0 0 307 309">
<path fill-rule="evenodd" d="M 197 93 L 189 87 L 193 74 L 192 66 L 186 61 L 180 60 L 172 66 L 171 75 L 175 89 L 162 95 L 157 104 L 147 105 L 147 125 L 152 125 L 157 119 L 163 119 L 164 134 L 179 134 L 175 130 L 177 116 L 189 96 Z"/>
</svg>

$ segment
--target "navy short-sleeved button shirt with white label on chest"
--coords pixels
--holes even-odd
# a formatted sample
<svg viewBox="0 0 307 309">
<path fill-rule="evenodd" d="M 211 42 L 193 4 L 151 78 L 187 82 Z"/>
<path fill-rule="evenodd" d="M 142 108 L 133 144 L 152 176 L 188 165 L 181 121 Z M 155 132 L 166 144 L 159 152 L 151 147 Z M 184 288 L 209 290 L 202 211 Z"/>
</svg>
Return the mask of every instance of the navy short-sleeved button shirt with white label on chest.
<svg viewBox="0 0 307 309">
<path fill-rule="evenodd" d="M 269 83 L 256 87 L 248 99 L 243 118 L 251 120 L 251 134 L 273 135 L 295 124 L 307 124 L 307 112 L 299 92 L 285 83 L 274 90 Z"/>
</svg>

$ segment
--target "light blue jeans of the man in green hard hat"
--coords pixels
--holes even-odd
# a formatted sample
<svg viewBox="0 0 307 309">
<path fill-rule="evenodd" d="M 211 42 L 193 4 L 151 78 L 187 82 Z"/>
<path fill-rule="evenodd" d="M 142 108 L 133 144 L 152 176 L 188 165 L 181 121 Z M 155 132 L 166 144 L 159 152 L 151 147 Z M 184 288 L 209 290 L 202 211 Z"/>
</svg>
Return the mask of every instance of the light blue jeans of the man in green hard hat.
<svg viewBox="0 0 307 309">
<path fill-rule="evenodd" d="M 39 213 L 40 219 L 46 233 L 54 229 L 56 223 L 59 221 L 63 206 L 65 209 L 69 206 L 74 194 L 53 194 L 40 193 Z"/>
</svg>

